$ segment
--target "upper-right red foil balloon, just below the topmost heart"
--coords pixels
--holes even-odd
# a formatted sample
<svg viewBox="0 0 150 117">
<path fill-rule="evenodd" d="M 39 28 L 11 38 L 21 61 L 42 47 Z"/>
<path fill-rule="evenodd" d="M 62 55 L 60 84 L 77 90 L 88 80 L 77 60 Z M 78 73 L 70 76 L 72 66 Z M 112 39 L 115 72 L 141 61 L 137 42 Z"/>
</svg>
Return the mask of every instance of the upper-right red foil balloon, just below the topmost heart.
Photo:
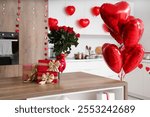
<svg viewBox="0 0 150 117">
<path fill-rule="evenodd" d="M 131 19 L 125 25 L 122 32 L 123 43 L 127 46 L 136 45 L 144 31 L 144 24 L 141 19 Z"/>
</svg>

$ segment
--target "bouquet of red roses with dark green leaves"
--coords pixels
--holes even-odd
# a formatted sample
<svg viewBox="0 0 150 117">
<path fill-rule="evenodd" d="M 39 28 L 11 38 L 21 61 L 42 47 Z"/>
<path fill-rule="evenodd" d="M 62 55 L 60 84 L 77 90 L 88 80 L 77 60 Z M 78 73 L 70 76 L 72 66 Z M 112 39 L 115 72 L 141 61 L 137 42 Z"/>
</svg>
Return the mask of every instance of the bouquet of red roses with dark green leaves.
<svg viewBox="0 0 150 117">
<path fill-rule="evenodd" d="M 69 54 L 71 46 L 77 47 L 79 33 L 75 33 L 72 27 L 67 26 L 52 26 L 48 33 L 49 43 L 54 44 L 55 55 L 58 56 L 62 53 Z"/>
</svg>

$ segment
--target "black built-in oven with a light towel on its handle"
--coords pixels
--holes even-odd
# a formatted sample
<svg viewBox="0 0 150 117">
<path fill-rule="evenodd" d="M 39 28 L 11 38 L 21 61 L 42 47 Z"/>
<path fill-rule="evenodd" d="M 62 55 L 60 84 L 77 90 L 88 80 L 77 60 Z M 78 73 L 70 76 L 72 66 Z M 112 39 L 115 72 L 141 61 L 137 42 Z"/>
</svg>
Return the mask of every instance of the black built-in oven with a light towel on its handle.
<svg viewBox="0 0 150 117">
<path fill-rule="evenodd" d="M 0 65 L 18 64 L 19 33 L 0 32 L 0 42 Z"/>
</svg>

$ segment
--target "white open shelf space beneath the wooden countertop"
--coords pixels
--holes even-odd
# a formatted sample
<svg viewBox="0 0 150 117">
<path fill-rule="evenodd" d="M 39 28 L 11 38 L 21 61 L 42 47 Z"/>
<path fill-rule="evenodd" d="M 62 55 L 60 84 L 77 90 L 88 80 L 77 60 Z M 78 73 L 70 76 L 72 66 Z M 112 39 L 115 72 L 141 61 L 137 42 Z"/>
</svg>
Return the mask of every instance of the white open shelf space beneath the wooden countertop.
<svg viewBox="0 0 150 117">
<path fill-rule="evenodd" d="M 33 97 L 28 98 L 27 100 L 97 100 L 97 94 L 103 92 L 114 93 L 115 100 L 124 100 L 124 87 L 122 86 Z"/>
</svg>

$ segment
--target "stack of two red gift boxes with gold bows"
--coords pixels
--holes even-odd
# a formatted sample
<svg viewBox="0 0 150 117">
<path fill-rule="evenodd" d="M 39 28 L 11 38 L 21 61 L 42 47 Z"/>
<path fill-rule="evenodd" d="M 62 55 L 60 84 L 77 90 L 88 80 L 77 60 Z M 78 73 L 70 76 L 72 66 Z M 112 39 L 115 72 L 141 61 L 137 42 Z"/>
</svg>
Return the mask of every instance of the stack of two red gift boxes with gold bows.
<svg viewBox="0 0 150 117">
<path fill-rule="evenodd" d="M 39 84 L 57 83 L 60 62 L 58 60 L 39 60 L 37 80 Z"/>
</svg>

